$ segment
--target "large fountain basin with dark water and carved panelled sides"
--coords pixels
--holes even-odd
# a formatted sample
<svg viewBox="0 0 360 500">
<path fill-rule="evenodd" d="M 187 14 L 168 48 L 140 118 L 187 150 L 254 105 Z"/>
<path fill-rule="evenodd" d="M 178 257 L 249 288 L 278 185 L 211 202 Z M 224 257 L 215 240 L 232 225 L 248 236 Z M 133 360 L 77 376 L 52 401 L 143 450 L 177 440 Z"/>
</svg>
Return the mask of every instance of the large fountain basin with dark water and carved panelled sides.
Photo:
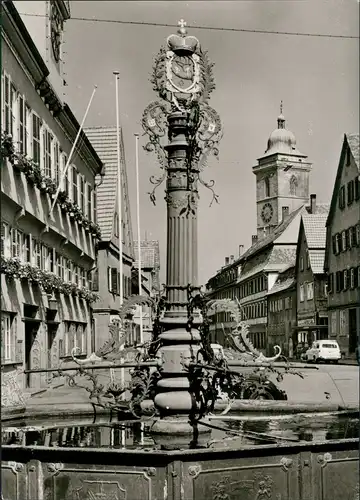
<svg viewBox="0 0 360 500">
<path fill-rule="evenodd" d="M 287 418 L 239 420 L 228 433 L 213 430 L 207 448 L 176 451 L 157 449 L 141 431 L 150 421 L 17 422 L 23 441 L 5 444 L 14 427 L 6 438 L 3 428 L 2 494 L 7 500 L 356 498 L 357 416 L 328 415 L 325 424 L 324 415 Z M 81 441 L 81 427 L 91 429 L 92 441 Z M 250 438 L 234 438 L 239 429 Z M 258 439 L 264 433 L 282 439 L 269 444 L 269 437 Z"/>
</svg>

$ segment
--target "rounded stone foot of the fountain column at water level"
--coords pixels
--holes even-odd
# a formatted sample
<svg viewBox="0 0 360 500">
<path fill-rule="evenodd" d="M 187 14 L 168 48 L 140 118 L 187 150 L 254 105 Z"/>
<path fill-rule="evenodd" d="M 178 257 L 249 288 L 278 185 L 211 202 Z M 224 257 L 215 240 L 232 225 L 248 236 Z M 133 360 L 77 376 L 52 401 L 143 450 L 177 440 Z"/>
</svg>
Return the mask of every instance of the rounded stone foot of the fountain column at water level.
<svg viewBox="0 0 360 500">
<path fill-rule="evenodd" d="M 163 450 L 206 447 L 210 432 L 203 425 L 191 425 L 184 417 L 161 418 L 151 427 L 151 437 Z"/>
</svg>

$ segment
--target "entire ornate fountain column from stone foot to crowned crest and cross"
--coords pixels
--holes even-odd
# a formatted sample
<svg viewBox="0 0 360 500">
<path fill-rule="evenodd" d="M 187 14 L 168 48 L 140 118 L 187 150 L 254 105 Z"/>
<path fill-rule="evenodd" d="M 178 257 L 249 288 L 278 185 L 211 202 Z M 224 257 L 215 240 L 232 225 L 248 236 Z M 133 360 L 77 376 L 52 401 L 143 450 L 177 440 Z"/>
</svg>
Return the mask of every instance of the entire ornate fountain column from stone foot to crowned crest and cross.
<svg viewBox="0 0 360 500">
<path fill-rule="evenodd" d="M 197 38 L 187 36 L 185 25 L 179 22 L 178 35 L 168 37 L 167 47 L 155 60 L 152 83 L 160 100 L 146 108 L 142 120 L 150 139 L 146 149 L 156 151 L 163 169 L 162 176 L 150 179 L 156 184 L 150 195 L 153 202 L 156 187 L 166 179 L 167 310 L 161 320 L 162 378 L 155 396 L 161 418 L 152 432 L 163 436 L 162 443 L 168 440 L 167 447 L 176 446 L 176 436 L 186 435 L 189 442 L 194 432 L 189 416 L 196 402 L 183 361 L 196 355 L 201 340 L 201 316 L 195 311 L 190 325 L 188 311 L 189 292 L 199 289 L 197 185 L 211 189 L 200 173 L 208 154 L 217 155 L 221 138 L 219 116 L 206 103 L 214 88 L 212 64 Z"/>
</svg>

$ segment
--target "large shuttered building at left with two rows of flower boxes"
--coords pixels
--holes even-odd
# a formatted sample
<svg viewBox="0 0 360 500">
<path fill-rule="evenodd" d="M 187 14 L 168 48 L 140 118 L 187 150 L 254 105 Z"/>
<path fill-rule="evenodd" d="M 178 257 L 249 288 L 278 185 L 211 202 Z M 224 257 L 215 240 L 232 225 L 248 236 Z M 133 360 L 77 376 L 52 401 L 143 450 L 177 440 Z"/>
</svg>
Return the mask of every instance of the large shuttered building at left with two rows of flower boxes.
<svg viewBox="0 0 360 500">
<path fill-rule="evenodd" d="M 56 4 L 63 25 L 68 4 Z M 49 17 L 42 23 L 50 30 L 44 36 L 53 36 Z M 47 377 L 24 369 L 58 366 L 73 348 L 80 356 L 92 351 L 96 295 L 89 278 L 103 164 L 82 133 L 61 175 L 79 123 L 51 83 L 59 68 L 50 71 L 11 1 L 2 4 L 1 35 L 1 364 L 22 388 L 32 388 Z M 59 56 L 60 42 L 49 57 Z"/>
</svg>

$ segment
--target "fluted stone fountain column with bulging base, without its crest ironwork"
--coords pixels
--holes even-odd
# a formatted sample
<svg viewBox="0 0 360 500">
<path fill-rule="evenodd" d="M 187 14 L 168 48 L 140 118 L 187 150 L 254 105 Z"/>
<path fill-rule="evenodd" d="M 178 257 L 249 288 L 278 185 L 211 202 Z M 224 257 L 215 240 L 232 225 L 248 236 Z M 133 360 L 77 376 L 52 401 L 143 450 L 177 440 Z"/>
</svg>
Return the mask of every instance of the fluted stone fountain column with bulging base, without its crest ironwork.
<svg viewBox="0 0 360 500">
<path fill-rule="evenodd" d="M 199 349 L 201 324 L 194 314 L 191 329 L 188 326 L 189 286 L 196 289 L 197 260 L 197 170 L 188 165 L 187 113 L 172 113 L 168 118 L 169 145 L 167 168 L 167 273 L 166 298 L 169 309 L 162 320 L 160 334 L 163 358 L 162 378 L 159 380 L 155 405 L 161 419 L 152 432 L 164 435 L 162 444 L 176 447 L 176 442 L 189 443 L 207 429 L 194 429 L 189 421 L 195 411 L 188 373 L 183 361 L 196 356 Z M 170 439 L 169 439 L 170 435 Z M 167 436 L 167 438 L 166 438 Z M 177 438 L 175 437 L 177 436 Z"/>
</svg>

